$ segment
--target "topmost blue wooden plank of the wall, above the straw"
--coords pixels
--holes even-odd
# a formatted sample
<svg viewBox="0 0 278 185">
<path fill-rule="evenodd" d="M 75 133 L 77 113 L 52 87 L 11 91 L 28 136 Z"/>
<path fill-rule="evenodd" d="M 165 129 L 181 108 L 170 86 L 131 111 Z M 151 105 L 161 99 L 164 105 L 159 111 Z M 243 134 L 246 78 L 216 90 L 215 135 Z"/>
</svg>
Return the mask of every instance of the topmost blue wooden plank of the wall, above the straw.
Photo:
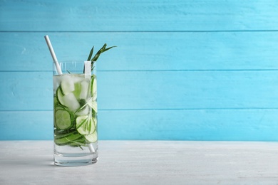
<svg viewBox="0 0 278 185">
<path fill-rule="evenodd" d="M 277 30 L 275 0 L 1 1 L 1 31 Z"/>
</svg>

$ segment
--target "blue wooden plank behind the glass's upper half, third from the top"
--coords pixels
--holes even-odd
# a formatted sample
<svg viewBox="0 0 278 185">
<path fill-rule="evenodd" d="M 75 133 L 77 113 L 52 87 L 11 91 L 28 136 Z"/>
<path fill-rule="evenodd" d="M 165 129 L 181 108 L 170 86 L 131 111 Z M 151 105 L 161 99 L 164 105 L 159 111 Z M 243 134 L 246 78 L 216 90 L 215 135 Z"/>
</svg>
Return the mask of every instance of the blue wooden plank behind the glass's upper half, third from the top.
<svg viewBox="0 0 278 185">
<path fill-rule="evenodd" d="M 278 108 L 277 79 L 277 71 L 103 71 L 98 105 L 104 110 Z M 0 83 L 0 110 L 52 110 L 51 72 L 2 72 Z"/>
</svg>

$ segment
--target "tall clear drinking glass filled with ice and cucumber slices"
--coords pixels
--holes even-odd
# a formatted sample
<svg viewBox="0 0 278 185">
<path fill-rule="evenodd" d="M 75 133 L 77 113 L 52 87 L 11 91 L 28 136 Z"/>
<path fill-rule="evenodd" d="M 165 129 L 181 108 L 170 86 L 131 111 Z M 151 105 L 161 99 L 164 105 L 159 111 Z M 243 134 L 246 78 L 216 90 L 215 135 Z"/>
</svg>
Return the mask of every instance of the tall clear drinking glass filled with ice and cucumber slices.
<svg viewBox="0 0 278 185">
<path fill-rule="evenodd" d="M 54 164 L 82 166 L 98 161 L 96 63 L 53 65 Z"/>
</svg>

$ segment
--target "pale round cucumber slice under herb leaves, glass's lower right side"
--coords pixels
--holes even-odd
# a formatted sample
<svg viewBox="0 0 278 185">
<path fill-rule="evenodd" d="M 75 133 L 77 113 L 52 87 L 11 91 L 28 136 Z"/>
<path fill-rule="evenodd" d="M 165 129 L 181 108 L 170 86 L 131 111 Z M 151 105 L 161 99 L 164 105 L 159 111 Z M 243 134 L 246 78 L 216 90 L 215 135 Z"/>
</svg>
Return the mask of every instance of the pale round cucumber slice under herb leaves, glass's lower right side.
<svg viewBox="0 0 278 185">
<path fill-rule="evenodd" d="M 93 134 L 96 129 L 95 121 L 91 116 L 79 116 L 76 118 L 76 129 L 80 134 Z"/>
</svg>

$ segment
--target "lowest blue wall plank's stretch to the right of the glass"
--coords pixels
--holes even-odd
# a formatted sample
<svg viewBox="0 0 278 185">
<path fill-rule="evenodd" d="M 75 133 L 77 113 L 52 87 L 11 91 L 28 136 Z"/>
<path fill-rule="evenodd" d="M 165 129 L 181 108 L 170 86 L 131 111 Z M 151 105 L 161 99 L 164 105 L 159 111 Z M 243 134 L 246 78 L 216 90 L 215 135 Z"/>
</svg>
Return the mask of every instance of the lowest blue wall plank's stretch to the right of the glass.
<svg viewBox="0 0 278 185">
<path fill-rule="evenodd" d="M 101 111 L 101 139 L 277 141 L 277 110 Z M 103 134 L 103 135 L 102 135 Z"/>
</svg>

